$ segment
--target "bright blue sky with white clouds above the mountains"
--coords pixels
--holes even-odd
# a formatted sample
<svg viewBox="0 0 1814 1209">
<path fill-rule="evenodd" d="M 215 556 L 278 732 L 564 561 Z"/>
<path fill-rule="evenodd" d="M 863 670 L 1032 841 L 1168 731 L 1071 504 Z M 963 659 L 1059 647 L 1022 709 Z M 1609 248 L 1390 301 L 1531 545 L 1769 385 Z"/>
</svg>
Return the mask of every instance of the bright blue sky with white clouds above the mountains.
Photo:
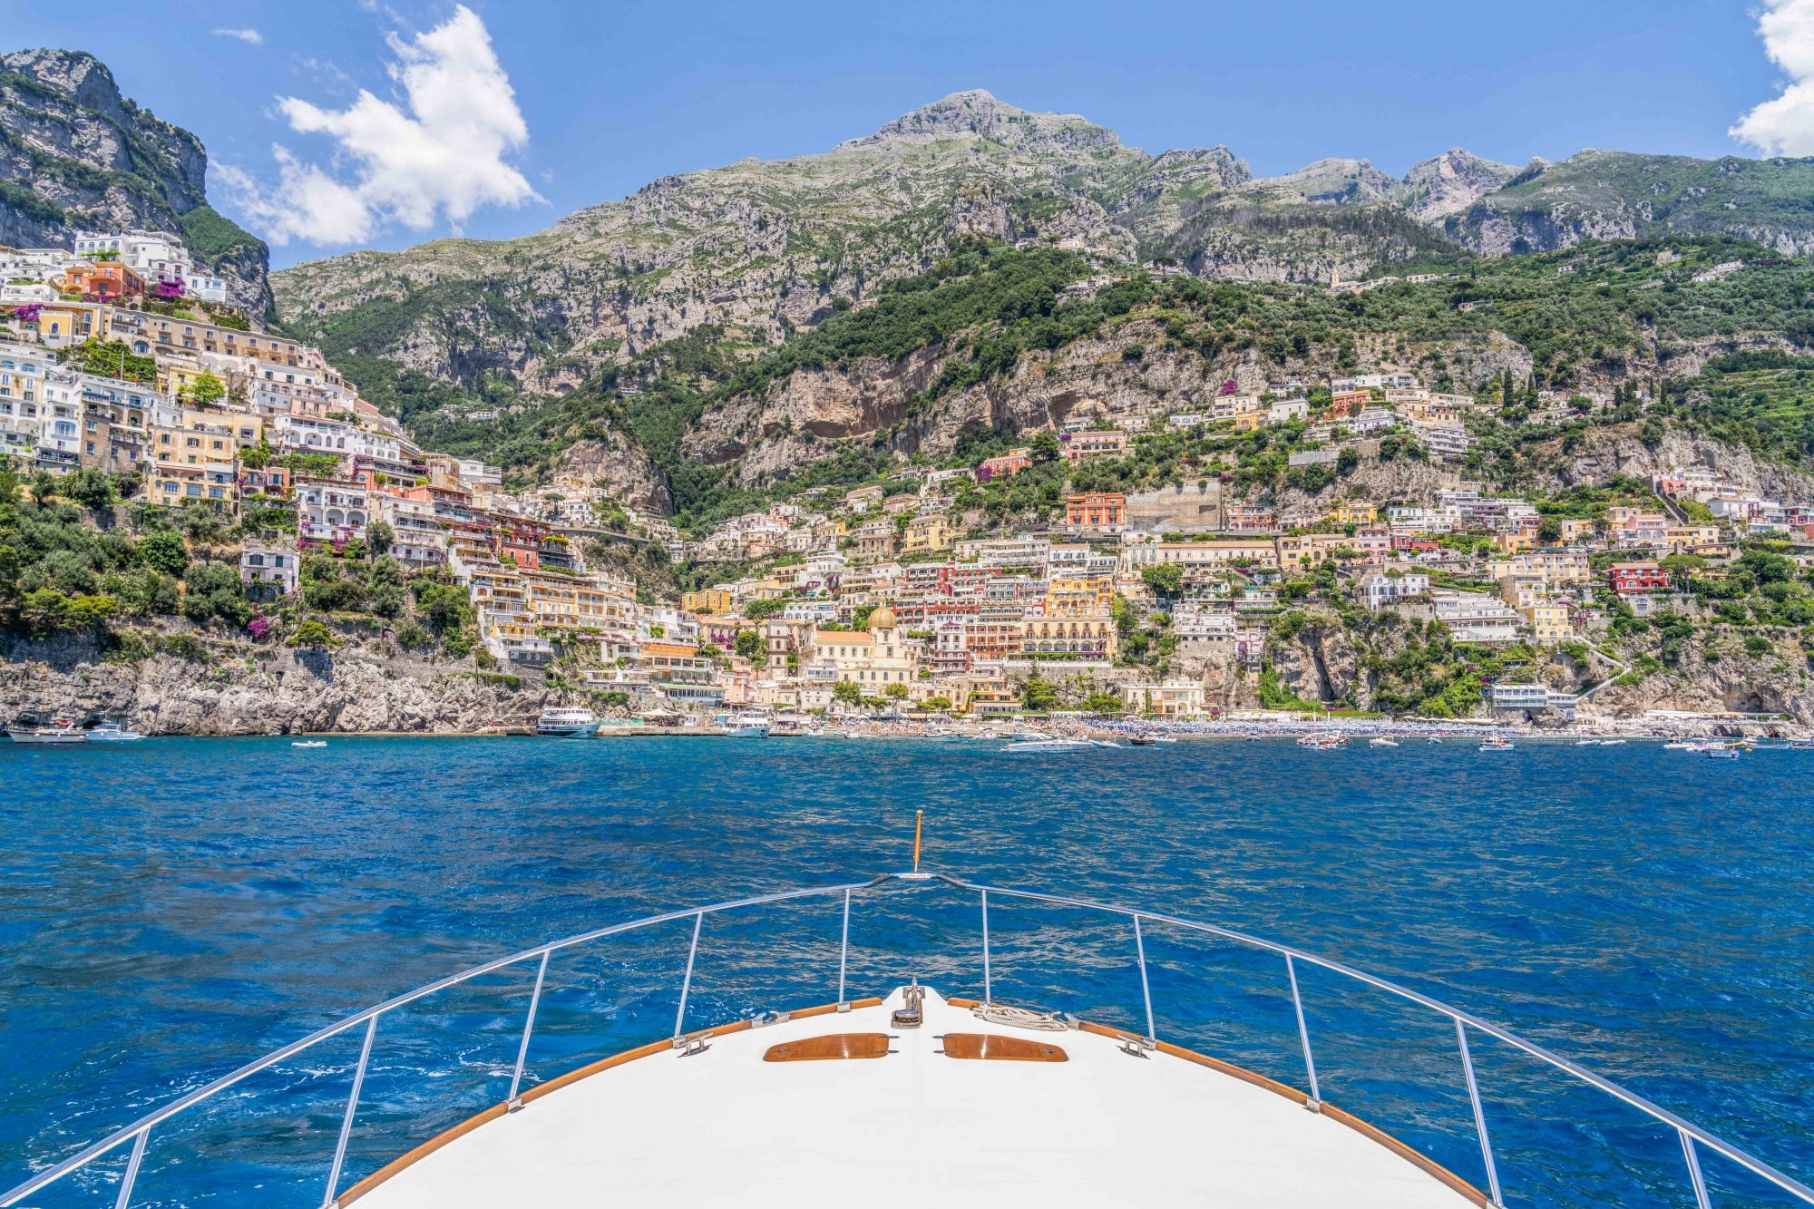
<svg viewBox="0 0 1814 1209">
<path fill-rule="evenodd" d="M 1402 174 L 1448 147 L 1814 154 L 1814 0 L 0 0 L 196 133 L 274 267 L 512 238 L 961 89 L 1125 143 Z"/>
</svg>

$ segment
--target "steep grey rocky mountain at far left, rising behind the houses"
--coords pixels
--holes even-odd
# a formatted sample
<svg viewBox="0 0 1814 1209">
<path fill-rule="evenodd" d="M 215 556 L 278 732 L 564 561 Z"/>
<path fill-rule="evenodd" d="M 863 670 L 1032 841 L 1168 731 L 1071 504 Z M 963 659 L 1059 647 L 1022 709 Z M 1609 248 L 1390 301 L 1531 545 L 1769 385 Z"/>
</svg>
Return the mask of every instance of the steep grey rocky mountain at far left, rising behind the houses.
<svg viewBox="0 0 1814 1209">
<path fill-rule="evenodd" d="M 82 51 L 0 54 L 0 243 L 69 247 L 80 231 L 171 231 L 263 318 L 263 241 L 207 200 L 201 140 L 120 94 Z"/>
</svg>

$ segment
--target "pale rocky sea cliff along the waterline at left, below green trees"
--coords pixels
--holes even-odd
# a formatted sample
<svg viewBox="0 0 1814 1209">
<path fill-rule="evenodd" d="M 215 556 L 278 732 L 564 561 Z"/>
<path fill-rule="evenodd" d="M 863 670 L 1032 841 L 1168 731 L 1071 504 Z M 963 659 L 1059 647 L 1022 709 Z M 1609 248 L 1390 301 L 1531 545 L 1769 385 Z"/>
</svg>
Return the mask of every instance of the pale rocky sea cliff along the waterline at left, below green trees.
<svg viewBox="0 0 1814 1209">
<path fill-rule="evenodd" d="M 510 688 L 470 663 L 421 663 L 375 644 L 314 652 L 210 641 L 207 652 L 207 661 L 111 663 L 85 641 L 15 643 L 0 650 L 0 719 L 107 717 L 145 735 L 472 733 L 533 728 L 559 701 L 533 681 Z"/>
</svg>

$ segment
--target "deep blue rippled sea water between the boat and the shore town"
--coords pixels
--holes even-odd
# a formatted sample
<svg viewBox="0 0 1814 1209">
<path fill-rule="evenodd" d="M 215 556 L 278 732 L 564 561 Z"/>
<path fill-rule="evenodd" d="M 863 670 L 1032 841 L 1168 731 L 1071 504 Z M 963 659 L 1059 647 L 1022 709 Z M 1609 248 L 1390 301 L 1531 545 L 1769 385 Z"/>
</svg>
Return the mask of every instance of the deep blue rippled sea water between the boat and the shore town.
<svg viewBox="0 0 1814 1209">
<path fill-rule="evenodd" d="M 356 1008 L 655 911 L 927 866 L 1297 942 L 1814 1182 L 1814 753 L 1462 742 L 0 744 L 0 1189 Z M 689 1027 L 831 1002 L 838 900 L 704 924 Z M 1143 1027 L 1126 920 L 992 902 L 994 995 Z M 688 920 L 559 955 L 530 1076 L 666 1037 Z M 1161 1037 L 1304 1084 L 1282 962 L 1154 926 Z M 345 1184 L 508 1089 L 533 964 L 385 1017 Z M 851 995 L 981 991 L 974 897 L 858 895 Z M 1453 1027 L 1301 968 L 1326 1100 L 1484 1185 Z M 1513 1205 L 1689 1205 L 1673 1135 L 1475 1038 Z M 134 1205 L 317 1205 L 359 1033 L 154 1136 Z M 125 1151 L 34 1198 L 112 1204 Z M 1721 1158 L 1720 1207 L 1790 1204 Z"/>
</svg>

